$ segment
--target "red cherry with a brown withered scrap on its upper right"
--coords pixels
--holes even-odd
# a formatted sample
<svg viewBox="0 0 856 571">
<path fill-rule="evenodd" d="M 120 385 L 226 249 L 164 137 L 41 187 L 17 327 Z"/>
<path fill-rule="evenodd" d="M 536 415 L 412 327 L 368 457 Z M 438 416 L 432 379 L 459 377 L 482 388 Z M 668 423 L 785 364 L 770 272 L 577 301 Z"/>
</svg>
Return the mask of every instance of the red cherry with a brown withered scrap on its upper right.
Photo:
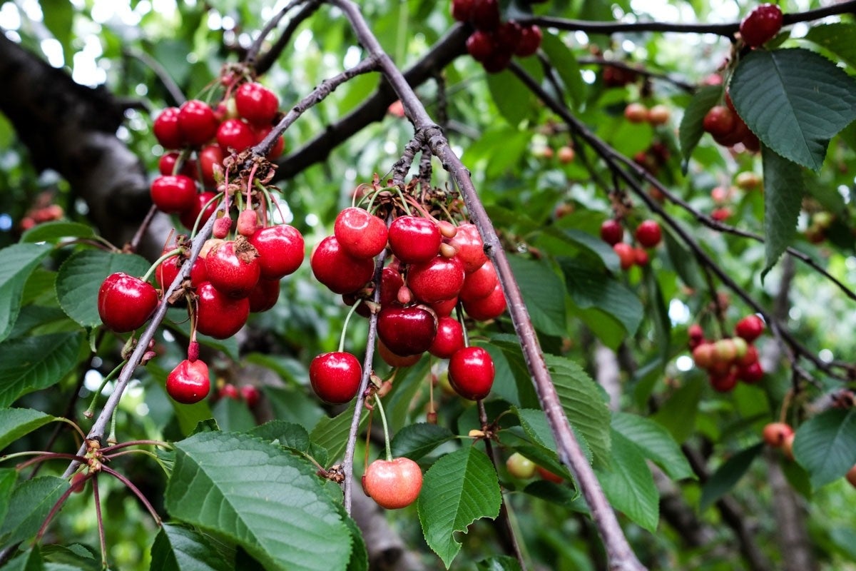
<svg viewBox="0 0 856 571">
<path fill-rule="evenodd" d="M 247 297 L 259 283 L 259 253 L 246 238 L 216 244 L 205 256 L 208 281 L 229 297 Z"/>
</svg>

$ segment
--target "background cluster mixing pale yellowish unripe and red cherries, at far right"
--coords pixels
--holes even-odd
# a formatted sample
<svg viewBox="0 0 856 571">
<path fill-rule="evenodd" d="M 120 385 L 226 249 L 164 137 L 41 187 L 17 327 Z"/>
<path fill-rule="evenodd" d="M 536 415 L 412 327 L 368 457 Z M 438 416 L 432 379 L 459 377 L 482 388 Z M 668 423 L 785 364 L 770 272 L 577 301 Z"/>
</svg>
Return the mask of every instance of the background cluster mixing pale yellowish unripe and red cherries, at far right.
<svg viewBox="0 0 856 571">
<path fill-rule="evenodd" d="M 738 381 L 754 384 L 764 378 L 758 361 L 758 349 L 753 342 L 764 332 L 764 321 L 757 315 L 747 315 L 734 326 L 734 337 L 716 341 L 704 338 L 698 324 L 689 328 L 689 347 L 693 361 L 708 373 L 710 386 L 728 392 Z"/>
</svg>

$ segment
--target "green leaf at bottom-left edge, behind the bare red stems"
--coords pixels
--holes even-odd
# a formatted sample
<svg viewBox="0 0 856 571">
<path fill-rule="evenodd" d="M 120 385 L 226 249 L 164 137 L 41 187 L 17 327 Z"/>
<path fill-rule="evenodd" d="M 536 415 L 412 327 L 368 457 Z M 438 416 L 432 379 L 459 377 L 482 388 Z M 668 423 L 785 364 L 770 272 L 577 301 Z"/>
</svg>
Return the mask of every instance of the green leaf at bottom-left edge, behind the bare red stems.
<svg viewBox="0 0 856 571">
<path fill-rule="evenodd" d="M 48 512 L 66 490 L 67 479 L 41 476 L 24 480 L 12 492 L 9 512 L 0 524 L 0 547 L 16 544 L 39 532 Z"/>
</svg>

